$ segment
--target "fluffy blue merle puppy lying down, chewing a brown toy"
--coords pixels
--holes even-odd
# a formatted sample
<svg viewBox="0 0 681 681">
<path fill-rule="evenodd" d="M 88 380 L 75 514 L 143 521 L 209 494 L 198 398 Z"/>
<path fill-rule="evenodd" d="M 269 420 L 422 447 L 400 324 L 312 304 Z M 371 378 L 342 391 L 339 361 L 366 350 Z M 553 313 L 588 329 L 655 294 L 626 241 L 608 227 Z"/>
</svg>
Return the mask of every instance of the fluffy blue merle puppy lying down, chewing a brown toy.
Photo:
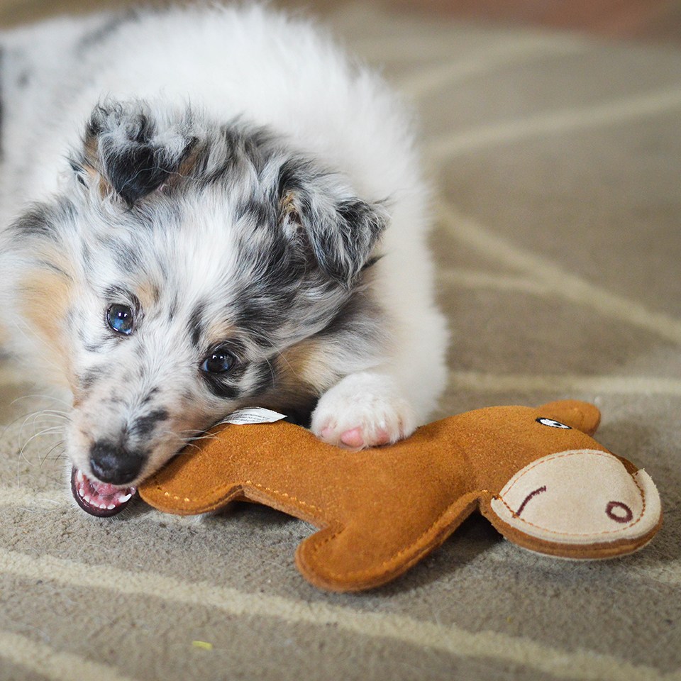
<svg viewBox="0 0 681 681">
<path fill-rule="evenodd" d="M 3 323 L 25 370 L 70 391 L 91 512 L 243 406 L 350 448 L 426 420 L 447 339 L 428 193 L 375 74 L 261 6 L 1 44 Z"/>
</svg>

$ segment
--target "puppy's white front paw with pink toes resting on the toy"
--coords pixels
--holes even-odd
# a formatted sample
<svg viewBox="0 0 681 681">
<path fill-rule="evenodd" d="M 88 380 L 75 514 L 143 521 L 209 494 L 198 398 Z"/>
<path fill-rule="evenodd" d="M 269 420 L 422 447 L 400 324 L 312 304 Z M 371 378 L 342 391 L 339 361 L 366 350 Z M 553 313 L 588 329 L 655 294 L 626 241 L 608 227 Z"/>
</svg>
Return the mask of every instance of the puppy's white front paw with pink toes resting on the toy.
<svg viewBox="0 0 681 681">
<path fill-rule="evenodd" d="M 389 377 L 362 373 L 345 377 L 321 396 L 311 427 L 324 442 L 362 449 L 410 436 L 416 417 Z"/>
</svg>

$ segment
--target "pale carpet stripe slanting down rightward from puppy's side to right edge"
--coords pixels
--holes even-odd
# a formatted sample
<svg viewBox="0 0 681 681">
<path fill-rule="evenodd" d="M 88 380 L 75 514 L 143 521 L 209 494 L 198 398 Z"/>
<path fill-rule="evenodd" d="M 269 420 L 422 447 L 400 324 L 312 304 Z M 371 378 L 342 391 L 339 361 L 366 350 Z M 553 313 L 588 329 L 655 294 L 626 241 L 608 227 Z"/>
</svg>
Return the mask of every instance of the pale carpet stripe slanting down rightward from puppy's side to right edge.
<svg viewBox="0 0 681 681">
<path fill-rule="evenodd" d="M 681 345 L 680 320 L 650 311 L 638 301 L 611 293 L 578 275 L 567 272 L 549 258 L 509 243 L 472 218 L 460 214 L 447 201 L 439 202 L 438 213 L 441 221 L 451 227 L 450 232 L 458 240 L 484 253 L 487 258 L 495 258 L 499 262 L 530 273 L 546 288 L 547 294 L 550 292 L 559 294 L 565 300 L 591 307 Z"/>
</svg>

